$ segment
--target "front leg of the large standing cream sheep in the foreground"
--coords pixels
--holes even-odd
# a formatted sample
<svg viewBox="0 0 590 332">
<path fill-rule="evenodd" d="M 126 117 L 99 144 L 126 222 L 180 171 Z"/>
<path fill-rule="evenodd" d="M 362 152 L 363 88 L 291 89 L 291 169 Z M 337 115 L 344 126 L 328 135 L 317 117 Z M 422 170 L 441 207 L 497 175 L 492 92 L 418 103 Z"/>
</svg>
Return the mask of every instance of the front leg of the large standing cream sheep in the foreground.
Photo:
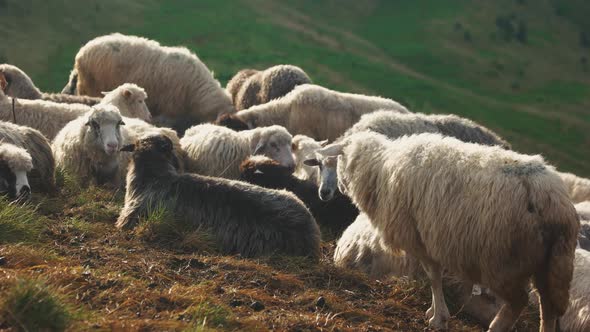
<svg viewBox="0 0 590 332">
<path fill-rule="evenodd" d="M 428 275 L 428 279 L 430 279 L 432 291 L 432 305 L 426 311 L 428 325 L 437 330 L 446 330 L 447 321 L 451 318 L 451 315 L 443 294 L 441 267 L 434 262 L 422 262 L 422 267 Z"/>
</svg>

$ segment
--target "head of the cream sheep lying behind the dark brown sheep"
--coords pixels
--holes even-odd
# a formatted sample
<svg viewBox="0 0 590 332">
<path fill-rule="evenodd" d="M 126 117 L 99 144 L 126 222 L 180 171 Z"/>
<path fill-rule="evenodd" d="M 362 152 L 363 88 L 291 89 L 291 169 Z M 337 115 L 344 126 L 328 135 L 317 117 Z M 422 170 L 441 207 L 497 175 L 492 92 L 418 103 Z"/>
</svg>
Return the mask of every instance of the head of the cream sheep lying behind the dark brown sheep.
<svg viewBox="0 0 590 332">
<path fill-rule="evenodd" d="M 276 160 L 290 171 L 295 169 L 295 160 L 291 150 L 292 136 L 285 128 L 279 126 L 267 127 L 268 130 L 260 135 L 254 148 L 253 155 L 263 155 Z"/>
</svg>

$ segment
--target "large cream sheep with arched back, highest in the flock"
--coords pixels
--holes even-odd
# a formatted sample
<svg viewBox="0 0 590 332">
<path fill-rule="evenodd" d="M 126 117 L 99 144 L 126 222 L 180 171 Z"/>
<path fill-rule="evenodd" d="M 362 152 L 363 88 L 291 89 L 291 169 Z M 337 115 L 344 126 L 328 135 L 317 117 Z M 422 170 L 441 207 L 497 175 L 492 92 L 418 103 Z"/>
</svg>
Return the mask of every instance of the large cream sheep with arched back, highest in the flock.
<svg viewBox="0 0 590 332">
<path fill-rule="evenodd" d="M 179 133 L 235 113 L 229 94 L 194 53 L 137 36 L 114 33 L 89 41 L 76 55 L 70 91 L 74 81 L 79 95 L 96 97 L 125 82 L 142 86 L 154 123 Z"/>
</svg>

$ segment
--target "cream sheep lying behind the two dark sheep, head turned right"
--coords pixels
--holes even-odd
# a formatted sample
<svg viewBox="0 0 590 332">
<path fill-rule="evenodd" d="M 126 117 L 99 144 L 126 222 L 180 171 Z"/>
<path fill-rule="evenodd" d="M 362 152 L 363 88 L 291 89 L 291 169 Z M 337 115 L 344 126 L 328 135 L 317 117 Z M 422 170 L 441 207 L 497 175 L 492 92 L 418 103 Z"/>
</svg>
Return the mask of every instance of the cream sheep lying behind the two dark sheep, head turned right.
<svg viewBox="0 0 590 332">
<path fill-rule="evenodd" d="M 237 179 L 240 163 L 250 155 L 262 154 L 294 168 L 291 139 L 291 134 L 281 126 L 235 132 L 202 124 L 188 129 L 180 145 L 187 153 L 187 171 Z"/>
</svg>

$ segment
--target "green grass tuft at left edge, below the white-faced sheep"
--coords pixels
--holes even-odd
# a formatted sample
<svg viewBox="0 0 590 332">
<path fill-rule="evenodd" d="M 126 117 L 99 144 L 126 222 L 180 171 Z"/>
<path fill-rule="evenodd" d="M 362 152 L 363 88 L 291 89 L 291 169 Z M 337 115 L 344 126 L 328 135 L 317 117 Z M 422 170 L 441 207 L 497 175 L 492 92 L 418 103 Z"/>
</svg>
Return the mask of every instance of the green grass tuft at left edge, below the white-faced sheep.
<svg viewBox="0 0 590 332">
<path fill-rule="evenodd" d="M 0 197 L 0 244 L 36 242 L 45 229 L 36 207 Z"/>
</svg>

